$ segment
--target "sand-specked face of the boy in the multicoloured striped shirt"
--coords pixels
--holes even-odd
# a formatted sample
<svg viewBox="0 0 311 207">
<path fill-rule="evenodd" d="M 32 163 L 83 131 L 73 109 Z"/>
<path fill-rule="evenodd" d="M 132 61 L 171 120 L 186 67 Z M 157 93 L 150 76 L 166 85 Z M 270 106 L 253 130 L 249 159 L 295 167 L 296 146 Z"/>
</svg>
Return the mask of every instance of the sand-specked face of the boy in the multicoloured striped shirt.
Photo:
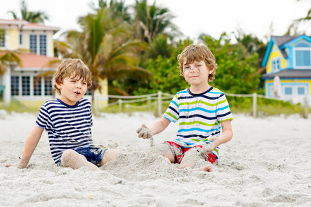
<svg viewBox="0 0 311 207">
<path fill-rule="evenodd" d="M 207 68 L 205 61 L 194 61 L 188 64 L 184 61 L 184 63 L 184 77 L 191 86 L 208 86 L 209 74 L 214 69 Z"/>
</svg>

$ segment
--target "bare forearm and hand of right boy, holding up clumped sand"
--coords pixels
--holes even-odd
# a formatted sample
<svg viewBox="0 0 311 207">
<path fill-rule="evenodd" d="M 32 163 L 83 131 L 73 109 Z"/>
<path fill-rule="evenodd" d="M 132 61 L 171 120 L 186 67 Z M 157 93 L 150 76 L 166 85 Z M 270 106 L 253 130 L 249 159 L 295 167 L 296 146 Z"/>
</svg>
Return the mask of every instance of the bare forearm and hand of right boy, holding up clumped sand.
<svg viewBox="0 0 311 207">
<path fill-rule="evenodd" d="M 140 128 L 136 131 L 138 133 L 138 137 L 142 137 L 143 139 L 149 139 L 152 135 L 157 135 L 162 132 L 164 129 L 169 126 L 171 121 L 161 117 L 158 121 L 153 122 L 151 126 L 148 128 L 145 124 L 142 124 Z M 147 132 L 143 130 L 143 128 L 147 129 Z"/>
</svg>

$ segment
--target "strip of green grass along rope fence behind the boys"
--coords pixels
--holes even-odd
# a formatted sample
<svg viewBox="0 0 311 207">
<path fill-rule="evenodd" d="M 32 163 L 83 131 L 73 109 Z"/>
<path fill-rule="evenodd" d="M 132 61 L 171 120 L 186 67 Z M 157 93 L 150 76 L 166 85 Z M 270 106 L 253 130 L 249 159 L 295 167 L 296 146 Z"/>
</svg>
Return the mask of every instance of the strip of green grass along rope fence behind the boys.
<svg viewBox="0 0 311 207">
<path fill-rule="evenodd" d="M 230 109 L 233 114 L 242 113 L 245 115 L 252 116 L 253 100 L 252 97 L 227 97 L 229 102 Z M 162 114 L 169 107 L 169 103 L 162 104 Z M 28 104 L 27 106 L 23 105 L 20 102 L 11 101 L 10 106 L 6 106 L 0 101 L 0 109 L 6 110 L 8 112 L 39 112 L 37 104 L 33 106 Z M 95 108 L 93 106 L 93 112 Z M 155 116 L 158 116 L 158 105 L 156 101 L 153 101 L 150 106 L 147 106 L 146 103 L 122 103 L 122 108 L 120 106 L 114 105 L 106 108 L 100 108 L 99 112 L 106 113 L 133 113 L 133 112 L 153 112 Z M 301 104 L 291 104 L 287 101 L 278 101 L 272 99 L 263 99 L 257 98 L 257 116 L 258 117 L 267 117 L 275 115 L 293 115 L 299 114 L 301 117 L 305 116 L 305 107 Z M 311 114 L 311 108 L 308 108 L 308 114 Z"/>
</svg>

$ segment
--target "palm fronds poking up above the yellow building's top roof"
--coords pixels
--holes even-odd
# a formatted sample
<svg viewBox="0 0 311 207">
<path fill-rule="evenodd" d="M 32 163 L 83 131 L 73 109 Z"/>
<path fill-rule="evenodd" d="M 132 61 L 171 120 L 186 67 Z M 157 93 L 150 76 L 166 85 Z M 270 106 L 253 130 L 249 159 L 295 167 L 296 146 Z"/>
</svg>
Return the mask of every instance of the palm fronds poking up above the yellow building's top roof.
<svg viewBox="0 0 311 207">
<path fill-rule="evenodd" d="M 24 19 L 30 23 L 44 23 L 44 20 L 48 20 L 48 15 L 44 12 L 32 12 L 28 11 L 27 3 L 25 0 L 21 1 L 20 8 L 21 16 L 13 11 L 8 11 L 8 13 L 12 14 L 14 19 Z"/>
</svg>

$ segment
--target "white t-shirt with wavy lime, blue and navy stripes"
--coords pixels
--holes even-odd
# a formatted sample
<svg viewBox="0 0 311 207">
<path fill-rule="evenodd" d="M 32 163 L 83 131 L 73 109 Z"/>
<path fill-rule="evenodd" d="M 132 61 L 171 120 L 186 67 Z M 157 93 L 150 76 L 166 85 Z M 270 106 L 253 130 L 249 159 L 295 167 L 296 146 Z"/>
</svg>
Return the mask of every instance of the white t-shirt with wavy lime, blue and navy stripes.
<svg viewBox="0 0 311 207">
<path fill-rule="evenodd" d="M 209 137 L 220 135 L 220 122 L 233 119 L 225 94 L 213 87 L 201 94 L 189 88 L 178 92 L 163 117 L 179 120 L 175 142 L 187 148 L 209 143 Z M 214 154 L 218 157 L 217 149 Z"/>
</svg>

